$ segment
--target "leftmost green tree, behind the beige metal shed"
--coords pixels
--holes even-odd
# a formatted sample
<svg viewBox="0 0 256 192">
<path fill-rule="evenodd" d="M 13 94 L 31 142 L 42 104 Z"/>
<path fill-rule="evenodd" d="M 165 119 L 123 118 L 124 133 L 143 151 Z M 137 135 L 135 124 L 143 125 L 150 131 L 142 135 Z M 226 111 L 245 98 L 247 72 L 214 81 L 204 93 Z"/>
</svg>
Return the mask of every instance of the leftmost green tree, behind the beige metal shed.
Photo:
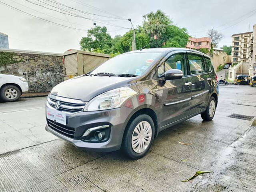
<svg viewBox="0 0 256 192">
<path fill-rule="evenodd" d="M 96 49 L 109 53 L 111 47 L 111 36 L 107 33 L 105 26 L 96 26 L 87 32 L 87 37 L 80 40 L 81 50 L 94 51 Z"/>
</svg>

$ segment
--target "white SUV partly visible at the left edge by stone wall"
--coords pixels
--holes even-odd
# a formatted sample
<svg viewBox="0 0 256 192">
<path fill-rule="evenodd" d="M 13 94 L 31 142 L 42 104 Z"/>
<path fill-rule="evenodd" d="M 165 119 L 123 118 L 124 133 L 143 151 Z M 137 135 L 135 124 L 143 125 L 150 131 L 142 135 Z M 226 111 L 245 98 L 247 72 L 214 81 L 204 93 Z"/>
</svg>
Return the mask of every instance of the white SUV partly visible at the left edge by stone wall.
<svg viewBox="0 0 256 192">
<path fill-rule="evenodd" d="M 28 91 L 28 82 L 23 77 L 0 74 L 0 100 L 16 101 L 20 95 Z"/>
</svg>

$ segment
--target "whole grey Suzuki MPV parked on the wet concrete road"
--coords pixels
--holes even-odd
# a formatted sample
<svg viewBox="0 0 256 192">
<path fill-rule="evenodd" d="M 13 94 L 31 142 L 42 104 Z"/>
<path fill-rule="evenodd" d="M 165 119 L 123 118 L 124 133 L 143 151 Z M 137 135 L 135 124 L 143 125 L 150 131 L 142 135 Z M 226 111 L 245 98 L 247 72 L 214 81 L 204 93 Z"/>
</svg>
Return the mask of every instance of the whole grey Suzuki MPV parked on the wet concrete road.
<svg viewBox="0 0 256 192">
<path fill-rule="evenodd" d="M 46 130 L 81 150 L 122 148 L 137 159 L 160 131 L 198 114 L 212 120 L 217 103 L 217 76 L 206 54 L 137 50 L 55 86 L 46 102 Z"/>
</svg>

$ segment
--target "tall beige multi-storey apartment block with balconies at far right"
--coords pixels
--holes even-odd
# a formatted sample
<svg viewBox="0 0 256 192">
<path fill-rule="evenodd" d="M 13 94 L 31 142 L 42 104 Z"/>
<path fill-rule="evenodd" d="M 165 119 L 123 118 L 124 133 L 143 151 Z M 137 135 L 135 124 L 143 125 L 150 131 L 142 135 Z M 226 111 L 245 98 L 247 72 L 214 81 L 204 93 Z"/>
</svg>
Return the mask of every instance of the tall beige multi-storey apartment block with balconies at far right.
<svg viewBox="0 0 256 192">
<path fill-rule="evenodd" d="M 253 50 L 253 32 L 238 33 L 232 35 L 232 64 L 250 63 Z"/>
</svg>

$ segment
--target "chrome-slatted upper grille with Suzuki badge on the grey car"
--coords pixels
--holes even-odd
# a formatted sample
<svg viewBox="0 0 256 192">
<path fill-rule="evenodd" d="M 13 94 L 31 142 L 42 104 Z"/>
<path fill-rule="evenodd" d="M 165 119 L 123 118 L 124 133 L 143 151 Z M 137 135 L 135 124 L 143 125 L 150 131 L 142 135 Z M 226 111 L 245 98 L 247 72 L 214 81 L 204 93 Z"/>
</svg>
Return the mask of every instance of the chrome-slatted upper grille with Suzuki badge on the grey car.
<svg viewBox="0 0 256 192">
<path fill-rule="evenodd" d="M 83 102 L 82 100 L 70 99 L 55 95 L 50 95 L 47 99 L 48 104 L 53 108 L 55 108 L 56 102 L 58 101 L 60 102 L 60 108 L 58 110 L 69 113 L 80 112 L 87 104 L 87 102 Z"/>
</svg>

